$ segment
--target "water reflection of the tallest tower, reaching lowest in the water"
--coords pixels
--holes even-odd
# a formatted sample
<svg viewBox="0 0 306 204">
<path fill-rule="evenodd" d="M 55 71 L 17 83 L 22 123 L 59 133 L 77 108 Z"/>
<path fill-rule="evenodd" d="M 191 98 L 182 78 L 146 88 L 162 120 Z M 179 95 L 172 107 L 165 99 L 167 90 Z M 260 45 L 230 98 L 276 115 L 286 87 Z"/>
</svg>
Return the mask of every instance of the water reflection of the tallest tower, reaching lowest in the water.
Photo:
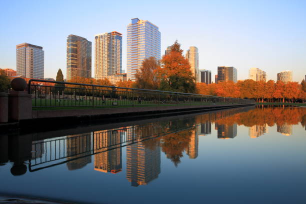
<svg viewBox="0 0 306 204">
<path fill-rule="evenodd" d="M 132 186 L 146 185 L 160 173 L 160 145 L 154 150 L 143 142 L 126 147 L 126 179 Z"/>
</svg>

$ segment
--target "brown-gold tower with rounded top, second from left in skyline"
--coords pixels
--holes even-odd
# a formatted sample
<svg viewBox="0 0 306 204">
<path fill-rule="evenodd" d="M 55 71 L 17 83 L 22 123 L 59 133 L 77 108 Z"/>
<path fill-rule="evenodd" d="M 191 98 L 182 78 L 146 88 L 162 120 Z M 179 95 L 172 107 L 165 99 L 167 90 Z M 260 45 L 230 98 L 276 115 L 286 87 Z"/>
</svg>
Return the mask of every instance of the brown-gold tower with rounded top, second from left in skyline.
<svg viewBox="0 0 306 204">
<path fill-rule="evenodd" d="M 67 80 L 80 76 L 91 78 L 91 42 L 84 37 L 67 37 Z"/>
</svg>

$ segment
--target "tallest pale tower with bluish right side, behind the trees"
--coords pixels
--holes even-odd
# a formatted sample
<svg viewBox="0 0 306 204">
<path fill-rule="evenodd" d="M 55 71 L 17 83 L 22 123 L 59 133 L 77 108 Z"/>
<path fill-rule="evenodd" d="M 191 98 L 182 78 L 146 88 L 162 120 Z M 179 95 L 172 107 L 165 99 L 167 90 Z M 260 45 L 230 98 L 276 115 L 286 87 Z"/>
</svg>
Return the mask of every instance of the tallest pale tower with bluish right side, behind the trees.
<svg viewBox="0 0 306 204">
<path fill-rule="evenodd" d="M 148 20 L 132 18 L 127 25 L 126 79 L 135 80 L 135 73 L 145 58 L 153 56 L 160 59 L 160 32 Z"/>
</svg>

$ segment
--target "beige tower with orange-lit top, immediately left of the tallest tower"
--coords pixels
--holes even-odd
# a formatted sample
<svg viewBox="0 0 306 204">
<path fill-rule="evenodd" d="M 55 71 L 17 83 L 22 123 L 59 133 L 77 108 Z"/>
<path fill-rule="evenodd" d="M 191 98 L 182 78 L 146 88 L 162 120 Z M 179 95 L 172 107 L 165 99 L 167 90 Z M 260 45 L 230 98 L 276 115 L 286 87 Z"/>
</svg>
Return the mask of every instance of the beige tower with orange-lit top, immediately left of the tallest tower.
<svg viewBox="0 0 306 204">
<path fill-rule="evenodd" d="M 117 31 L 94 36 L 94 78 L 104 79 L 122 72 L 122 34 Z"/>
</svg>

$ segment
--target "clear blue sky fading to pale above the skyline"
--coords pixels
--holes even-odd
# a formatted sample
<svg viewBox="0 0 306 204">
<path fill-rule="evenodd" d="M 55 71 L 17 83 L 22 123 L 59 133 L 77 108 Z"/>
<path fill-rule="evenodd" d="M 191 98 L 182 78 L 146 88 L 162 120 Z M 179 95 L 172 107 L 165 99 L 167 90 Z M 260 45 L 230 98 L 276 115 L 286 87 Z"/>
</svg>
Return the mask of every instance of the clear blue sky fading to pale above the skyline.
<svg viewBox="0 0 306 204">
<path fill-rule="evenodd" d="M 306 74 L 306 0 L 0 0 L 0 67 L 16 68 L 15 45 L 43 46 L 44 77 L 66 74 L 66 37 L 92 41 L 94 34 L 123 34 L 122 68 L 126 69 L 126 25 L 130 18 L 149 20 L 161 32 L 161 53 L 177 39 L 184 50 L 197 46 L 199 68 L 235 66 L 238 79 L 250 67 L 276 73 Z"/>
</svg>

